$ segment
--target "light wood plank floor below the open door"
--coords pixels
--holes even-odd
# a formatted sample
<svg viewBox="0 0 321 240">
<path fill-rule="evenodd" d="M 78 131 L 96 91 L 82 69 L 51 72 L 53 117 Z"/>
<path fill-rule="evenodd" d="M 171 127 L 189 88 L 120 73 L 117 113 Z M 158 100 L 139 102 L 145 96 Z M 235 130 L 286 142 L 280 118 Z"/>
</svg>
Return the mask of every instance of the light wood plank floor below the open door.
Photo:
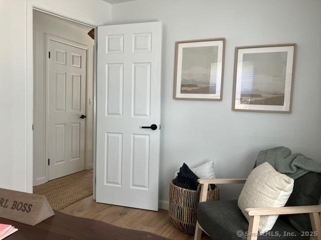
<svg viewBox="0 0 321 240">
<path fill-rule="evenodd" d="M 168 211 L 148 211 L 130 207 L 97 203 L 88 196 L 66 208 L 64 213 L 102 220 L 116 226 L 152 232 L 173 240 L 192 240 L 193 235 L 179 231 L 169 219 Z M 203 235 L 202 240 L 211 238 Z"/>
</svg>

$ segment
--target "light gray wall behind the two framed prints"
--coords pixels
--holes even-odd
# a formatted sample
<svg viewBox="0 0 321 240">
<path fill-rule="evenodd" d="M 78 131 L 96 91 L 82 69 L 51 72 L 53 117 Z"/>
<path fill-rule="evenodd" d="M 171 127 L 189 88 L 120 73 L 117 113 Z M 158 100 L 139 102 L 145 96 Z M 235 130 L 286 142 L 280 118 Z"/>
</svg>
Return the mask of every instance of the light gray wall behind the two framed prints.
<svg viewBox="0 0 321 240">
<path fill-rule="evenodd" d="M 112 23 L 163 21 L 160 194 L 186 162 L 215 160 L 218 177 L 246 177 L 259 150 L 285 145 L 321 158 L 320 0 L 136 0 L 112 5 Z M 175 41 L 226 38 L 222 101 L 173 99 Z M 293 112 L 231 110 L 234 48 L 297 43 Z M 240 187 L 221 187 L 235 198 Z"/>
</svg>

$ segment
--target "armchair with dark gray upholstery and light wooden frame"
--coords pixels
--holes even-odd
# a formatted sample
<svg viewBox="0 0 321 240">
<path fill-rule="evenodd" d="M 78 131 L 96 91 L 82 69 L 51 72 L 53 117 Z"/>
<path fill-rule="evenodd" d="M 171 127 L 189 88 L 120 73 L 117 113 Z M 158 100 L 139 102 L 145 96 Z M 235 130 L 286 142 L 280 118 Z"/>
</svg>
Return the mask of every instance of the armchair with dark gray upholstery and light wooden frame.
<svg viewBox="0 0 321 240">
<path fill-rule="evenodd" d="M 302 189 L 302 187 L 312 187 L 313 182 L 319 182 L 321 174 L 308 172 L 304 176 L 294 181 L 292 194 Z M 231 178 L 212 178 L 199 179 L 201 188 L 200 203 L 197 209 L 197 224 L 195 231 L 195 240 L 200 240 L 204 231 L 213 240 L 224 239 L 247 239 L 247 240 L 263 240 L 263 239 L 317 239 L 321 240 L 321 226 L 319 220 L 319 212 L 321 212 L 321 204 L 319 205 L 300 205 L 300 206 L 283 206 L 271 208 L 247 208 L 245 212 L 249 215 L 249 222 L 238 208 L 237 200 L 219 200 L 206 202 L 206 195 L 209 184 L 228 184 L 228 183 L 245 183 L 246 179 Z M 318 185 L 319 186 L 319 185 Z M 318 187 L 315 186 L 315 187 Z M 312 189 L 312 188 L 311 188 Z M 293 195 L 295 197 L 295 195 Z M 308 202 L 308 199 L 306 199 Z M 315 200 L 313 201 L 315 202 Z M 311 222 L 311 228 L 307 231 L 299 231 L 294 228 L 288 221 L 282 219 L 282 215 L 308 214 L 303 221 Z M 271 234 L 258 235 L 260 217 L 264 215 L 279 215 Z M 292 216 L 292 215 L 291 215 Z M 302 216 L 302 215 L 301 215 Z M 305 224 L 306 225 L 306 224 Z M 310 238 L 311 237 L 311 238 Z"/>
</svg>

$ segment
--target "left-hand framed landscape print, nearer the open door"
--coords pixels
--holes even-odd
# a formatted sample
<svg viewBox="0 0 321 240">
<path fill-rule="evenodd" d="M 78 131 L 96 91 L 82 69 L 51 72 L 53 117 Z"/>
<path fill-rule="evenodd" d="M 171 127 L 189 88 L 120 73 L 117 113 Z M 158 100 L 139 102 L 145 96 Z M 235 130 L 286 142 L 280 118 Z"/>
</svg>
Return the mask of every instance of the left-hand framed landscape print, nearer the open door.
<svg viewBox="0 0 321 240">
<path fill-rule="evenodd" d="M 174 98 L 222 100 L 225 38 L 176 42 Z"/>
</svg>

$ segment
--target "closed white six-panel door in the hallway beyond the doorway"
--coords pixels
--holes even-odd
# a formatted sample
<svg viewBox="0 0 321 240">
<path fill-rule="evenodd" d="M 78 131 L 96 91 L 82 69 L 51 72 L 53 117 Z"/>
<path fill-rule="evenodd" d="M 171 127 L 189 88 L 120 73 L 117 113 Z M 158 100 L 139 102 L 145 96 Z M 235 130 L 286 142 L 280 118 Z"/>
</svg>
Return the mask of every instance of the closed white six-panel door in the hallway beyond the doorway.
<svg viewBox="0 0 321 240">
<path fill-rule="evenodd" d="M 85 169 L 86 50 L 49 40 L 49 180 Z M 82 117 L 85 117 L 83 115 Z"/>
</svg>

